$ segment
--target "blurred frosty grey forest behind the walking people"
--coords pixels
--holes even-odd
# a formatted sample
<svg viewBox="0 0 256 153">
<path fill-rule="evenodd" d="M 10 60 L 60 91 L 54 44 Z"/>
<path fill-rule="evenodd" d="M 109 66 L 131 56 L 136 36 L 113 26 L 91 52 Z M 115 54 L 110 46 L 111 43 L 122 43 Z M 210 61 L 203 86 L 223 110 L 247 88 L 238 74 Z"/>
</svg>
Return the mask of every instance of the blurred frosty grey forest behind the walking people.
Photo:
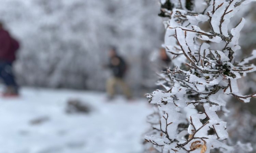
<svg viewBox="0 0 256 153">
<path fill-rule="evenodd" d="M 158 11 L 156 0 L 2 0 L 0 20 L 22 43 L 21 85 L 104 90 L 102 65 L 116 46 L 129 65 L 128 83 L 139 89 L 163 41 Z"/>
</svg>

